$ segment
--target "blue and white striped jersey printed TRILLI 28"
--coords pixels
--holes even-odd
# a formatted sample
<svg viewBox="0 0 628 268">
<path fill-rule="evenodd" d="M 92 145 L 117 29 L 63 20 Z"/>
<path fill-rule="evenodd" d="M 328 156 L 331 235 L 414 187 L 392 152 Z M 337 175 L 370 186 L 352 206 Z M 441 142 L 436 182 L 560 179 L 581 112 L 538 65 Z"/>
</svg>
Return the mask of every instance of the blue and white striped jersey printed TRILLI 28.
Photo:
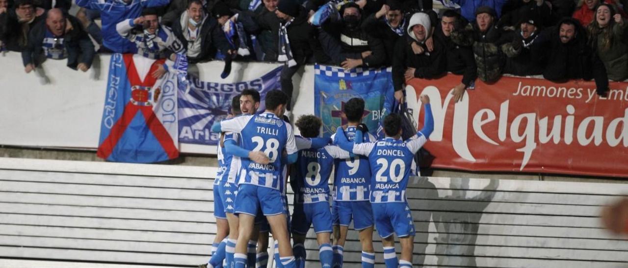
<svg viewBox="0 0 628 268">
<path fill-rule="evenodd" d="M 261 187 L 283 189 L 283 160 L 281 155 L 286 150 L 288 155 L 296 153 L 295 135 L 292 126 L 273 113 L 242 115 L 220 122 L 222 131 L 240 133 L 240 147 L 261 151 L 271 163 L 262 165 L 245 158 L 241 160 L 242 169 L 238 183 Z"/>
</svg>

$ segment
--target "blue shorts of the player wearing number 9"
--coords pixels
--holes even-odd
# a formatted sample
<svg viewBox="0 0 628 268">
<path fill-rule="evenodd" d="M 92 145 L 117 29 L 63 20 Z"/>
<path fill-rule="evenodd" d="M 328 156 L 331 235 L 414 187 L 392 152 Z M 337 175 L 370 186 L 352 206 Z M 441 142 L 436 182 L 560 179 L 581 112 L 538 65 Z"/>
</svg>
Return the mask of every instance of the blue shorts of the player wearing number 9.
<svg viewBox="0 0 628 268">
<path fill-rule="evenodd" d="M 334 201 L 332 204 L 333 225 L 349 226 L 354 222 L 355 230 L 373 226 L 373 210 L 370 201 Z"/>
</svg>

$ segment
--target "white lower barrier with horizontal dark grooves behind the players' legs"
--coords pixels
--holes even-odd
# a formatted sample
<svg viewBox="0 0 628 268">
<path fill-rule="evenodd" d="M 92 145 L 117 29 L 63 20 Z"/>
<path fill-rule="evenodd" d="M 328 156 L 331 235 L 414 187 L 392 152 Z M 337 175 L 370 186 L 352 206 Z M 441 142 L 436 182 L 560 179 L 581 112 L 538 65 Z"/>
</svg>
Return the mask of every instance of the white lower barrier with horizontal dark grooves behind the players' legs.
<svg viewBox="0 0 628 268">
<path fill-rule="evenodd" d="M 0 158 L 0 267 L 20 267 L 10 259 L 178 267 L 207 262 L 217 232 L 216 170 Z M 626 192 L 628 185 L 615 183 L 411 177 L 406 196 L 416 230 L 413 264 L 625 267 L 628 240 L 602 229 L 598 215 Z M 290 188 L 288 199 L 292 203 Z M 360 267 L 358 237 L 349 231 L 344 267 Z M 307 238 L 306 267 L 320 267 L 313 229 Z M 384 267 L 379 236 L 372 239 L 376 267 Z"/>
</svg>

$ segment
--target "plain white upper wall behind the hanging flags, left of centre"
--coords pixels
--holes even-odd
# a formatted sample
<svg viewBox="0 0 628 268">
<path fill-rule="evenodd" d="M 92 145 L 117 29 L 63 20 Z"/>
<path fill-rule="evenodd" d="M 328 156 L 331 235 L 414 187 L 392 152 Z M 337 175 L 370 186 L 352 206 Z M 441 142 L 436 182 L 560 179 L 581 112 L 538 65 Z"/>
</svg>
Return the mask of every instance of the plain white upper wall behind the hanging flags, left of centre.
<svg viewBox="0 0 628 268">
<path fill-rule="evenodd" d="M 48 60 L 36 73 L 27 74 L 19 53 L 0 54 L 0 145 L 98 147 L 109 55 L 97 56 L 87 73 L 73 71 L 65 64 L 65 60 Z M 276 66 L 279 63 L 234 63 L 231 75 L 224 80 L 220 78 L 222 61 L 198 64 L 190 72 L 198 73 L 204 81 L 232 83 L 259 78 Z M 294 118 L 313 113 L 313 66 L 297 73 L 294 81 L 298 83 L 293 96 Z M 204 145 L 181 144 L 180 150 L 215 153 L 215 147 Z"/>
</svg>

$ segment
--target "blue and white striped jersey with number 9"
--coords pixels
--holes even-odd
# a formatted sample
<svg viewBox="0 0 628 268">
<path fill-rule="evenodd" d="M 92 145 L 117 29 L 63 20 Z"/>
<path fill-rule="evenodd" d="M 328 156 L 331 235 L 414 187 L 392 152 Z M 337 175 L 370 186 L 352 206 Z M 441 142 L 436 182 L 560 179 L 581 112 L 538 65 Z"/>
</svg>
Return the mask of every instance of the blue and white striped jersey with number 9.
<svg viewBox="0 0 628 268">
<path fill-rule="evenodd" d="M 355 126 L 345 130 L 347 140 L 355 138 Z M 335 134 L 332 135 L 332 139 Z M 363 142 L 376 141 L 371 133 L 364 135 Z M 371 167 L 369 158 L 355 156 L 347 160 L 335 161 L 335 177 L 333 180 L 333 200 L 335 201 L 367 201 L 369 200 L 369 186 L 371 185 Z"/>
</svg>

